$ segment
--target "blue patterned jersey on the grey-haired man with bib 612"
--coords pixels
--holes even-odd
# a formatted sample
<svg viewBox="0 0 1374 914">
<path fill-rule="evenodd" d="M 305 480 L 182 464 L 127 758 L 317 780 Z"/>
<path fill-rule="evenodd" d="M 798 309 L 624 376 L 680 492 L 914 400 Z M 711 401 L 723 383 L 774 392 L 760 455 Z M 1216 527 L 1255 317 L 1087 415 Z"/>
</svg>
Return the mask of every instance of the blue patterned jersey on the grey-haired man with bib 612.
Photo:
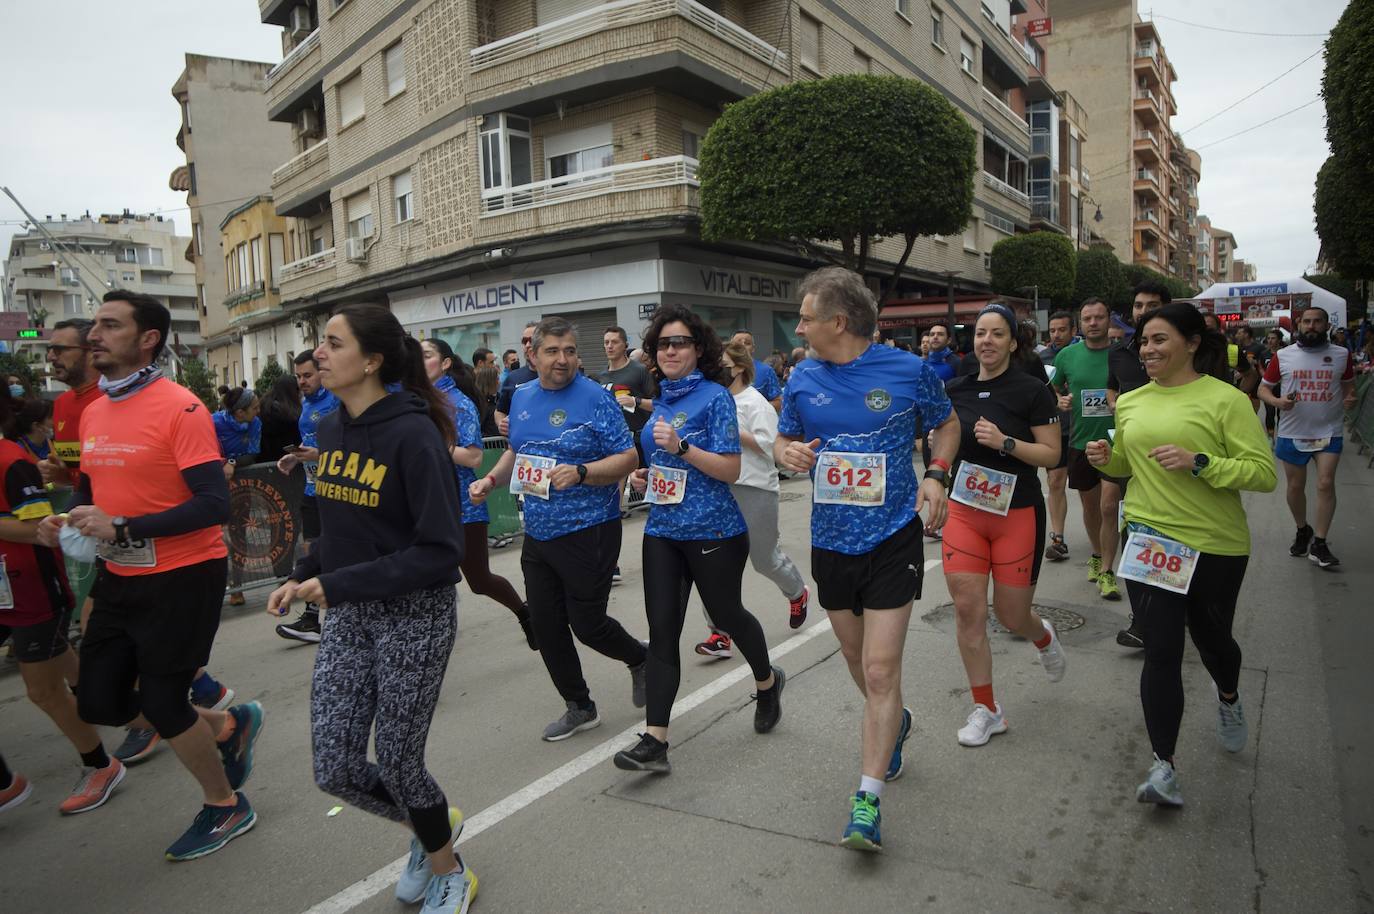
<svg viewBox="0 0 1374 914">
<path fill-rule="evenodd" d="M 916 509 L 911 452 L 918 423 L 934 429 L 949 411 L 940 375 L 901 349 L 870 345 L 848 364 L 807 359 L 793 368 L 783 392 L 779 434 L 802 441 L 820 438 L 822 452 L 886 455 L 883 503 L 812 504 L 812 546 L 861 555 L 910 524 Z"/>
</svg>

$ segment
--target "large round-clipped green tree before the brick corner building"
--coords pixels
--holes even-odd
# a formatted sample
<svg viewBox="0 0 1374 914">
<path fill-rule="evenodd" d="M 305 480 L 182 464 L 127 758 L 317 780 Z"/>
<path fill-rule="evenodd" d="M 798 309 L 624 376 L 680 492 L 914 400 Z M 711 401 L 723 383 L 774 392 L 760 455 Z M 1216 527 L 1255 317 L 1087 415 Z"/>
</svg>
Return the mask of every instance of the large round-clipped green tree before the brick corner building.
<svg viewBox="0 0 1374 914">
<path fill-rule="evenodd" d="M 702 236 L 786 241 L 864 272 L 879 238 L 959 235 L 977 133 L 940 92 L 894 76 L 791 82 L 725 109 L 702 146 Z M 818 242 L 838 243 L 842 254 Z"/>
</svg>

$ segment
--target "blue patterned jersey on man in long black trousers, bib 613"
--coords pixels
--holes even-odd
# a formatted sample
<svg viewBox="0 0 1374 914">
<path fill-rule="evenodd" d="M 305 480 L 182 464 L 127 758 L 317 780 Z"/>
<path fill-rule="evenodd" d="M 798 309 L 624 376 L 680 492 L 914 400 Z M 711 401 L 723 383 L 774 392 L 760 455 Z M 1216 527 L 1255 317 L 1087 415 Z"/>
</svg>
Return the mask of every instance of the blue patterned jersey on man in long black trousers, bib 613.
<svg viewBox="0 0 1374 914">
<path fill-rule="evenodd" d="M 629 451 L 635 438 L 625 411 L 610 390 L 577 375 L 562 390 L 545 390 L 539 378 L 511 394 L 511 448 L 517 454 L 554 458 L 559 463 L 591 463 Z M 620 485 L 574 485 L 550 489 L 548 499 L 525 499 L 525 535 L 551 540 L 588 526 L 620 520 Z"/>
</svg>

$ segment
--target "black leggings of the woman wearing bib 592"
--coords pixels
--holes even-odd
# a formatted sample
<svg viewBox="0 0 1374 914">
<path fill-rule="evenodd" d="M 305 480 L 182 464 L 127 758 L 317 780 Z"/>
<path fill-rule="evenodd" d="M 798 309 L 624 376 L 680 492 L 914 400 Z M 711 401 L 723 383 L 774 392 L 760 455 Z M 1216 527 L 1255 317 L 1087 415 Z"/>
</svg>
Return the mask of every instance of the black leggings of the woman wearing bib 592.
<svg viewBox="0 0 1374 914">
<path fill-rule="evenodd" d="M 749 561 L 749 533 L 725 540 L 668 540 L 644 536 L 644 612 L 649 614 L 650 727 L 666 727 L 682 680 L 677 642 L 687 617 L 687 590 L 695 584 L 706 614 L 730 632 L 749 661 L 754 682 L 772 672 L 768 642 L 758 620 L 745 609 L 739 588 Z"/>
</svg>

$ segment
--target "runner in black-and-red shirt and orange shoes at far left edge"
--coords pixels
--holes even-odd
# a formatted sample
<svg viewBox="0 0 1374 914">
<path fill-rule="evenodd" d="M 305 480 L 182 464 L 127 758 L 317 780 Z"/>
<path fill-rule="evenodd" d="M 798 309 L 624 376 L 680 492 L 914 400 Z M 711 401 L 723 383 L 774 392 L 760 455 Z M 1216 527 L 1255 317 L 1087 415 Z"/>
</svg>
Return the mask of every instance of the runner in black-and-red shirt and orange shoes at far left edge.
<svg viewBox="0 0 1374 914">
<path fill-rule="evenodd" d="M 33 458 L 8 440 L 14 404 L 10 392 L 0 389 L 0 429 L 5 433 L 0 440 L 0 643 L 14 639 L 29 701 L 52 719 L 81 757 L 81 779 L 58 807 L 73 815 L 103 805 L 125 768 L 106 753 L 95 727 L 81 720 L 76 695 L 67 689 L 78 680 L 77 656 L 67 645 L 71 591 L 62 553 L 37 543 L 38 521 L 52 515 L 52 504 Z"/>
</svg>

